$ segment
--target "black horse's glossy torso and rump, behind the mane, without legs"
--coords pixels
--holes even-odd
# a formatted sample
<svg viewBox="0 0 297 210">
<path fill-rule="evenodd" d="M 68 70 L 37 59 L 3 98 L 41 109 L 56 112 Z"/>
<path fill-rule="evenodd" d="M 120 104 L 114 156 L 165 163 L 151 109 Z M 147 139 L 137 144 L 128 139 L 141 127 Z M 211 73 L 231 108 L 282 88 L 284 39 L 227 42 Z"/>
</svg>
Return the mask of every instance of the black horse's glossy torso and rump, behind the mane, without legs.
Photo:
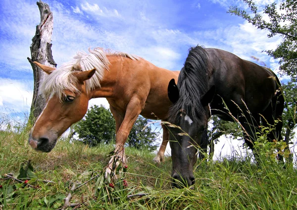
<svg viewBox="0 0 297 210">
<path fill-rule="evenodd" d="M 206 52 L 212 65 L 210 82 L 227 104 L 244 101 L 252 113 L 266 109 L 278 88 L 269 71 L 231 52 L 218 49 L 206 49 Z"/>
</svg>

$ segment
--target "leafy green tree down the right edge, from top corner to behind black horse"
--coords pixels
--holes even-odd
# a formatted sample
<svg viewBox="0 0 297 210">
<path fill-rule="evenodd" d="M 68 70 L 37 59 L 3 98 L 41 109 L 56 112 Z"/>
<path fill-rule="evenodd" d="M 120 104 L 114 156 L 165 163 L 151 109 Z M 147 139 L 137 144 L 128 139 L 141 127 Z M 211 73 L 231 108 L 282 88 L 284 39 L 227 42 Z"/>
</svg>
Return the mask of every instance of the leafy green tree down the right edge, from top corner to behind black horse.
<svg viewBox="0 0 297 210">
<path fill-rule="evenodd" d="M 258 11 L 258 7 L 253 0 L 242 0 L 247 3 L 251 13 L 231 6 L 229 13 L 246 19 L 258 29 L 269 31 L 268 37 L 281 36 L 282 42 L 275 50 L 266 50 L 269 55 L 279 59 L 282 75 L 288 75 L 291 79 L 283 84 L 283 92 L 286 98 L 284 111 L 284 133 L 285 142 L 289 143 L 293 130 L 296 128 L 297 109 L 297 0 L 283 0 L 279 4 L 276 2 L 267 4 L 263 11 Z M 278 7 L 278 8 L 277 8 Z M 263 18 L 267 15 L 267 18 Z"/>
</svg>

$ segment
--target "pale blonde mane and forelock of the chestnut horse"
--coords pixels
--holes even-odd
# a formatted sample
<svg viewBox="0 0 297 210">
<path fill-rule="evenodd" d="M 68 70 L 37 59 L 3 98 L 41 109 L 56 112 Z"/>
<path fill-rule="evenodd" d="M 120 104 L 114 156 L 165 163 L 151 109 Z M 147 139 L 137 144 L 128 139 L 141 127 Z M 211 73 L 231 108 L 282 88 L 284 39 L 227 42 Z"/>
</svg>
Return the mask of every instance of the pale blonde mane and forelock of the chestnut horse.
<svg viewBox="0 0 297 210">
<path fill-rule="evenodd" d="M 117 55 L 121 57 L 127 57 L 132 60 L 138 60 L 140 57 L 125 52 L 111 52 L 110 50 L 103 50 L 102 48 L 95 48 L 89 52 L 77 52 L 73 57 L 73 60 L 62 64 L 59 68 L 52 71 L 45 77 L 44 82 L 40 87 L 40 94 L 43 94 L 46 99 L 56 94 L 61 100 L 64 96 L 64 90 L 70 90 L 78 92 L 76 88 L 77 78 L 73 75 L 73 72 L 77 71 L 73 67 L 80 61 L 82 71 L 88 71 L 96 68 L 95 74 L 91 79 L 86 80 L 87 92 L 100 87 L 100 81 L 103 79 L 104 71 L 109 69 L 109 61 L 107 55 Z"/>
</svg>

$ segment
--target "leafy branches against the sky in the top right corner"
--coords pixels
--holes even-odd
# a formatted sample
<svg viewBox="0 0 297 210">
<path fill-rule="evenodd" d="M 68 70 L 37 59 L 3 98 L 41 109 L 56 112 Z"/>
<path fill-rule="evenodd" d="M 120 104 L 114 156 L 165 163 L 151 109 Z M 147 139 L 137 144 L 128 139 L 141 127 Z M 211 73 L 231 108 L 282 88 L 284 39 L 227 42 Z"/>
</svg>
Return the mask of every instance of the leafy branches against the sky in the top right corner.
<svg viewBox="0 0 297 210">
<path fill-rule="evenodd" d="M 263 11 L 258 11 L 258 7 L 252 0 L 243 0 L 247 3 L 252 14 L 239 9 L 237 6 L 231 6 L 229 12 L 243 17 L 249 23 L 259 29 L 267 29 L 268 37 L 279 35 L 283 38 L 281 44 L 275 50 L 268 50 L 269 55 L 280 59 L 280 70 L 283 74 L 297 77 L 297 1 L 284 0 L 279 4 L 267 4 Z M 267 15 L 269 20 L 264 19 Z"/>
</svg>

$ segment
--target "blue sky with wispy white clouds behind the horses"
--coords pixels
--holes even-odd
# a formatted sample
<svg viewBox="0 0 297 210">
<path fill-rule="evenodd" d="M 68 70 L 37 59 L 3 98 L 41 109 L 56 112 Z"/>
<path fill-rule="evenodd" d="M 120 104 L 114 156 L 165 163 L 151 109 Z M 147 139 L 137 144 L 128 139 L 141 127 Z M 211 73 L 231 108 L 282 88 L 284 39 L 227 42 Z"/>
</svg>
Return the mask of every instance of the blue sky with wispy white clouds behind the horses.
<svg viewBox="0 0 297 210">
<path fill-rule="evenodd" d="M 267 38 L 229 6 L 240 0 L 45 0 L 53 13 L 52 55 L 69 61 L 89 47 L 139 55 L 153 64 L 180 70 L 190 47 L 219 48 L 277 72 L 278 61 L 263 50 L 275 49 L 281 38 Z M 254 0 L 261 8 L 273 0 Z M 36 0 L 0 1 L 0 113 L 29 114 L 33 72 L 27 57 L 40 23 Z M 104 104 L 104 99 L 91 100 Z"/>
</svg>

